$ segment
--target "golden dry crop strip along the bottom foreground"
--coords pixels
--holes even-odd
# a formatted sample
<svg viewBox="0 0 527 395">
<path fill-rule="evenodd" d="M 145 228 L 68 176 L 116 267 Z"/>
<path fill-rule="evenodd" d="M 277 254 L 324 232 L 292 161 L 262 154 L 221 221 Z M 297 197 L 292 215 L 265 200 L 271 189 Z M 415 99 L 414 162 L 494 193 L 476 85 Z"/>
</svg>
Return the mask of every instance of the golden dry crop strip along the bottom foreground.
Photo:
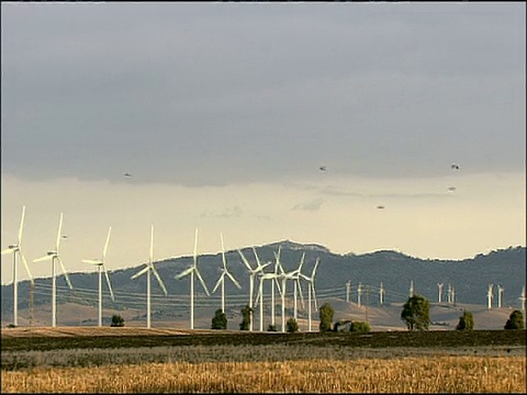
<svg viewBox="0 0 527 395">
<path fill-rule="evenodd" d="M 525 393 L 525 357 L 166 362 L 2 371 L 2 393 Z"/>
</svg>

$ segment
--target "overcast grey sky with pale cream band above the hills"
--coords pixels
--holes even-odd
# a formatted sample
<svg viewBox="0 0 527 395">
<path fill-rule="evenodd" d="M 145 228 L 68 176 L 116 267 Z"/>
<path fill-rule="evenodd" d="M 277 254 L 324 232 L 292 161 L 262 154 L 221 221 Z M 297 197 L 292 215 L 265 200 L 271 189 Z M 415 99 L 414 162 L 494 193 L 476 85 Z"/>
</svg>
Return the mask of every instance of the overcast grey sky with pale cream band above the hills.
<svg viewBox="0 0 527 395">
<path fill-rule="evenodd" d="M 1 3 L 1 248 L 25 205 L 36 278 L 60 212 L 69 272 L 110 226 L 109 270 L 150 226 L 155 260 L 195 228 L 457 260 L 526 245 L 525 191 L 525 2 Z"/>
</svg>

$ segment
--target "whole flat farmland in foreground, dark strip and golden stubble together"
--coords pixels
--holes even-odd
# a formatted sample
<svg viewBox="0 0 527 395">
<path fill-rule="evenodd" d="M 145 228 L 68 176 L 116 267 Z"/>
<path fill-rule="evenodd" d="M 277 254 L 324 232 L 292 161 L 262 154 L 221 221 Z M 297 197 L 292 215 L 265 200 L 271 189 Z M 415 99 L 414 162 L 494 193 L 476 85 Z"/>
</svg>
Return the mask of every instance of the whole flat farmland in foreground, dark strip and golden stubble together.
<svg viewBox="0 0 527 395">
<path fill-rule="evenodd" d="M 2 331 L 2 393 L 523 392 L 526 331 Z M 134 377 L 134 380 L 132 380 Z"/>
</svg>

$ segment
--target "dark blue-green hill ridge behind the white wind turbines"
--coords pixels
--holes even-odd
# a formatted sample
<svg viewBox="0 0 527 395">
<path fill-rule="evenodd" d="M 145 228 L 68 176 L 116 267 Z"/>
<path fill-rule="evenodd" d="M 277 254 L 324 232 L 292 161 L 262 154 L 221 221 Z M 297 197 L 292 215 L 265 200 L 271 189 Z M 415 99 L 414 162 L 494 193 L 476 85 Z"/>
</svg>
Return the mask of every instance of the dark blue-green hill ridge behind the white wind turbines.
<svg viewBox="0 0 527 395">
<path fill-rule="evenodd" d="M 486 292 L 489 283 L 500 284 L 504 289 L 503 306 L 514 308 L 520 307 L 519 296 L 526 279 L 526 248 L 509 247 L 495 250 L 486 255 L 476 255 L 474 258 L 464 260 L 439 260 L 419 259 L 406 256 L 397 251 L 381 250 L 363 255 L 346 253 L 338 255 L 329 251 L 326 247 L 316 244 L 302 245 L 290 240 L 283 240 L 265 246 L 255 247 L 262 263 L 274 262 L 273 252 L 281 246 L 280 262 L 285 271 L 296 269 L 300 259 L 305 253 L 305 261 L 302 268 L 304 274 L 311 274 L 315 260 L 321 259 L 316 272 L 316 296 L 317 298 L 337 298 L 346 301 L 346 282 L 351 282 L 349 294 L 350 302 L 358 302 L 357 285 L 362 284 L 361 303 L 379 307 L 379 289 L 382 282 L 385 290 L 385 303 L 404 303 L 410 294 L 410 283 L 414 282 L 415 293 L 422 294 L 431 302 L 438 302 L 438 285 L 444 283 L 442 302 L 447 301 L 448 284 L 456 291 L 456 302 L 460 304 L 486 306 Z M 242 249 L 243 253 L 255 267 L 256 259 L 253 247 Z M 228 280 L 225 283 L 227 304 L 239 306 L 248 303 L 249 276 L 247 268 L 236 250 L 226 252 L 227 266 L 231 273 L 242 285 L 236 289 Z M 152 303 L 153 317 L 155 314 L 179 317 L 188 314 L 190 279 L 175 280 L 175 275 L 183 271 L 192 263 L 192 257 L 180 257 L 166 259 L 156 262 L 159 275 L 164 280 L 169 296 L 165 297 L 152 276 Z M 199 257 L 198 268 L 212 292 L 221 274 L 221 253 L 203 255 Z M 146 276 L 131 280 L 142 264 L 120 269 L 110 272 L 115 303 L 109 295 L 105 283 L 104 308 L 115 311 L 145 309 Z M 270 264 L 266 271 L 271 271 Z M 98 305 L 98 276 L 97 273 L 71 273 L 74 290 L 69 290 L 64 275 L 57 278 L 57 295 L 59 304 L 77 304 L 97 307 Z M 194 279 L 194 303 L 197 307 L 220 308 L 220 290 L 211 296 L 206 296 L 198 279 Z M 34 287 L 34 309 L 44 309 L 51 303 L 51 278 L 36 279 Z M 307 298 L 306 283 L 302 283 L 304 297 Z M 288 284 L 288 300 L 292 298 L 293 286 Z M 368 293 L 368 295 L 367 295 Z M 265 297 L 269 298 L 270 285 L 265 285 Z M 277 303 L 279 294 L 276 294 Z M 30 297 L 30 282 L 19 283 L 19 315 L 27 316 Z M 497 296 L 494 297 L 493 306 L 497 306 Z M 214 308 L 213 308 L 214 307 Z M 12 285 L 1 286 L 1 319 L 3 325 L 12 320 Z M 234 313 L 233 313 L 234 314 Z M 278 313 L 277 313 L 278 314 Z M 316 314 L 313 313 L 313 314 Z M 141 317 L 139 317 L 141 318 Z M 153 318 L 154 319 L 154 318 Z"/>
</svg>

